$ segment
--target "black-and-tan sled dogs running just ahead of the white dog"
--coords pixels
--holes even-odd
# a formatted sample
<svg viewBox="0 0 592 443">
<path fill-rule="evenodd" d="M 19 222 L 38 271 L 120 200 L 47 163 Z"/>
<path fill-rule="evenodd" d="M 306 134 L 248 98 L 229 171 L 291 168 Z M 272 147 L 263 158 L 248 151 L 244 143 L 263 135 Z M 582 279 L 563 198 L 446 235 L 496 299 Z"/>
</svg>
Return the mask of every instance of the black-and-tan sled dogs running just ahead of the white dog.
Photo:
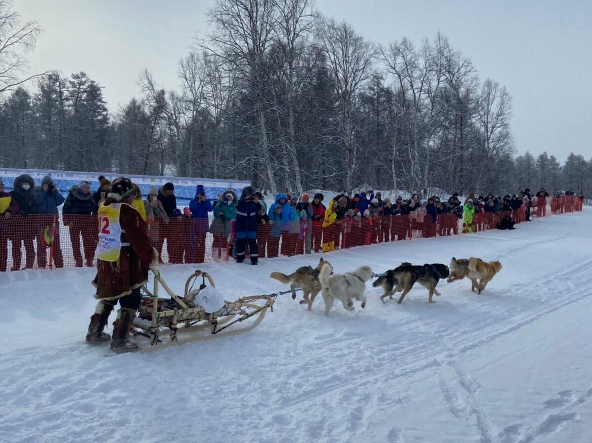
<svg viewBox="0 0 592 443">
<path fill-rule="evenodd" d="M 392 300 L 392 294 L 397 291 L 403 291 L 401 297 L 397 300 L 398 304 L 401 304 L 403 298 L 413 288 L 413 285 L 419 283 L 429 291 L 428 302 L 433 303 L 432 296 L 436 294 L 439 296 L 440 293 L 436 289 L 436 285 L 440 278 L 446 278 L 450 275 L 448 266 L 435 263 L 432 265 L 413 266 L 410 263 L 401 263 L 401 265 L 395 269 L 391 269 L 379 277 L 372 286 L 382 286 L 384 294 L 380 297 L 382 303 L 385 298 Z"/>
</svg>

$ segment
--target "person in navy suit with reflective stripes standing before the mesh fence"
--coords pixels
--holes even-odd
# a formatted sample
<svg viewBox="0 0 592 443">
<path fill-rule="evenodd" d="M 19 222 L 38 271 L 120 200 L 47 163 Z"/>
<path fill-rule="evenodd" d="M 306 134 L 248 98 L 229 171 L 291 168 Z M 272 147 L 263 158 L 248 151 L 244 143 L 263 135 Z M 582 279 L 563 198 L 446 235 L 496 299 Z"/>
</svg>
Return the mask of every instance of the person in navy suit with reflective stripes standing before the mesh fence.
<svg viewBox="0 0 592 443">
<path fill-rule="evenodd" d="M 236 262 L 244 261 L 244 246 L 249 242 L 249 256 L 252 265 L 257 264 L 259 250 L 257 248 L 257 213 L 263 205 L 255 197 L 253 188 L 243 188 L 239 204 L 236 206 Z"/>
</svg>

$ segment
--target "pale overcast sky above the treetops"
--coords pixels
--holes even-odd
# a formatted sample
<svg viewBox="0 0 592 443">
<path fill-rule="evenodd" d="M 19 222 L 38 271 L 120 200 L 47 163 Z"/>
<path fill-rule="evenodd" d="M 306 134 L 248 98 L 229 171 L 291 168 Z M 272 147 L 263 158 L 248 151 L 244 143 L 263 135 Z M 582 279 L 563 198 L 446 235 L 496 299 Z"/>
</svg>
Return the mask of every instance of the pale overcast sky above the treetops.
<svg viewBox="0 0 592 443">
<path fill-rule="evenodd" d="M 166 89 L 196 33 L 207 31 L 213 0 L 14 0 L 22 20 L 44 28 L 29 54 L 31 71 L 84 70 L 104 86 L 112 113 L 139 95 L 144 67 Z M 440 30 L 471 58 L 483 80 L 506 85 L 519 153 L 546 151 L 563 161 L 592 157 L 592 1 L 317 0 L 368 40 L 403 36 L 418 43 Z"/>
</svg>

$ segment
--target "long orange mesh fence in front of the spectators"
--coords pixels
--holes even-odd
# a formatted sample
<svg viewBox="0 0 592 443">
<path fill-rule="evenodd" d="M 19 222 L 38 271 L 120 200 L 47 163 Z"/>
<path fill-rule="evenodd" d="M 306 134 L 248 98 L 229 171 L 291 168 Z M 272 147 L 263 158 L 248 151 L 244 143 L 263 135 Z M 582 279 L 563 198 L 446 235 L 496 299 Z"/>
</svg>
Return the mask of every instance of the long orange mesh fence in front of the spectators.
<svg viewBox="0 0 592 443">
<path fill-rule="evenodd" d="M 582 210 L 583 201 L 575 195 L 538 198 L 530 215 Z M 496 229 L 504 217 L 514 222 L 526 220 L 527 207 L 512 211 L 477 212 L 467 231 Z M 417 238 L 459 235 L 463 219 L 455 214 L 432 217 L 375 216 L 346 217 L 330 226 L 321 222 L 301 220 L 300 230 L 281 230 L 272 224 L 259 224 L 256 233 L 259 258 L 274 258 L 303 253 L 329 252 L 377 243 L 398 242 Z M 200 264 L 229 261 L 236 258 L 234 222 L 212 223 L 192 217 L 171 218 L 168 223 L 156 218 L 149 220 L 152 246 L 164 264 Z M 0 272 L 20 269 L 62 267 L 94 267 L 98 223 L 96 216 L 34 215 L 23 217 L 0 215 Z M 246 256 L 254 251 L 246 245 Z"/>
</svg>

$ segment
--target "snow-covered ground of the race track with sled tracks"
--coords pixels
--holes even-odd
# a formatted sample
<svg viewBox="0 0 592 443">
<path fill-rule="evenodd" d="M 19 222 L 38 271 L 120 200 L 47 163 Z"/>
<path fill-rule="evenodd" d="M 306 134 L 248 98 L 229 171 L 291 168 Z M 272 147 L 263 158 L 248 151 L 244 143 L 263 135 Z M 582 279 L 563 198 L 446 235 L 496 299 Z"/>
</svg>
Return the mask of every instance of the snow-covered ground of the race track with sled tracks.
<svg viewBox="0 0 592 443">
<path fill-rule="evenodd" d="M 2 442 L 592 441 L 592 210 L 517 230 L 364 246 L 336 272 L 470 255 L 504 268 L 482 295 L 446 284 L 436 304 L 279 298 L 243 335 L 105 358 L 83 342 L 92 269 L 0 275 Z M 233 300 L 284 289 L 272 271 L 318 255 L 208 264 Z M 178 291 L 193 268 L 164 267 Z M 110 327 L 111 328 L 111 327 Z M 109 331 L 110 332 L 110 331 Z"/>
</svg>

